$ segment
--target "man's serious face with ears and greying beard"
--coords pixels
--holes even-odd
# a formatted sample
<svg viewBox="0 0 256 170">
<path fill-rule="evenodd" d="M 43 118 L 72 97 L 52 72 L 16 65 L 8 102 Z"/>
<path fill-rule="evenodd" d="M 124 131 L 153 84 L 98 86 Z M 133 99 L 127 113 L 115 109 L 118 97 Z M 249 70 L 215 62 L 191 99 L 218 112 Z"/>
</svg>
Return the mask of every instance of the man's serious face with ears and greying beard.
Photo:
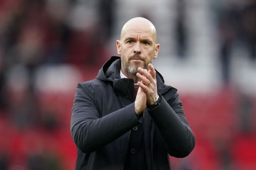
<svg viewBox="0 0 256 170">
<path fill-rule="evenodd" d="M 116 46 L 117 53 L 121 55 L 122 72 L 134 76 L 138 67 L 148 69 L 148 64 L 157 58 L 159 50 L 155 31 L 145 24 L 126 25 Z"/>
</svg>

